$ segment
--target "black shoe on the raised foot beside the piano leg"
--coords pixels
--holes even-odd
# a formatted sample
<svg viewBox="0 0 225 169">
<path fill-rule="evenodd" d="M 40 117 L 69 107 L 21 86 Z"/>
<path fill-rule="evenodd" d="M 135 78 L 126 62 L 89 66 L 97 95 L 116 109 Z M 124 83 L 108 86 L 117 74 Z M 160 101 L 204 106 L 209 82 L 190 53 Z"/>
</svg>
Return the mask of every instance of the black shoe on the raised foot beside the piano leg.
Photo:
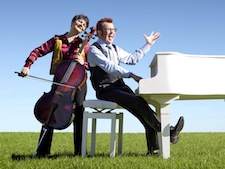
<svg viewBox="0 0 225 169">
<path fill-rule="evenodd" d="M 181 116 L 175 127 L 170 127 L 170 142 L 176 144 L 179 139 L 179 133 L 184 127 L 184 117 Z"/>
</svg>

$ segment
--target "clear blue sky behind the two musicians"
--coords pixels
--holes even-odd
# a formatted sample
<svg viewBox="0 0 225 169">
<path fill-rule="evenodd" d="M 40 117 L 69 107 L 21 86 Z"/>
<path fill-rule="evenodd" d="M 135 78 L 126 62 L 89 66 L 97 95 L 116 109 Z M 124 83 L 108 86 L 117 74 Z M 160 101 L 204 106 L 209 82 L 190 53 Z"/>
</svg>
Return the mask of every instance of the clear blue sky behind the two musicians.
<svg viewBox="0 0 225 169">
<path fill-rule="evenodd" d="M 71 19 L 76 14 L 89 16 L 90 26 L 95 26 L 101 18 L 113 18 L 118 29 L 114 43 L 129 52 L 144 45 L 143 33 L 149 35 L 151 31 L 159 31 L 161 38 L 136 66 L 123 65 L 143 78 L 150 78 L 149 64 L 156 52 L 225 57 L 224 0 L 9 0 L 2 1 L 0 8 L 0 132 L 39 132 L 41 124 L 35 119 L 33 109 L 43 92 L 50 91 L 51 84 L 20 78 L 14 71 L 22 69 L 35 47 L 55 34 L 69 31 Z M 52 80 L 48 74 L 50 60 L 51 54 L 38 59 L 30 75 Z M 133 90 L 138 87 L 131 79 L 125 81 Z M 94 98 L 95 92 L 88 80 L 87 99 Z M 124 132 L 144 132 L 135 117 L 123 112 Z M 224 100 L 174 101 L 171 124 L 181 115 L 185 117 L 184 132 L 225 131 Z M 109 132 L 106 126 L 108 122 L 100 121 L 98 131 Z M 72 131 L 72 125 L 64 131 Z"/>
</svg>

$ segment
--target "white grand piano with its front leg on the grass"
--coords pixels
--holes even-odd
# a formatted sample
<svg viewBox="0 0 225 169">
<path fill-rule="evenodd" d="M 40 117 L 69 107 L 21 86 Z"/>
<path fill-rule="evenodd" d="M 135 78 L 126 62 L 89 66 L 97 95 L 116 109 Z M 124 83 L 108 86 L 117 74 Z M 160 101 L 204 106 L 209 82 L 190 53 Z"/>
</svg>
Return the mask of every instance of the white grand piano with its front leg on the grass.
<svg viewBox="0 0 225 169">
<path fill-rule="evenodd" d="M 161 118 L 160 150 L 169 158 L 171 102 L 225 99 L 225 56 L 158 52 L 150 68 L 151 78 L 140 80 L 137 92 Z"/>
</svg>

